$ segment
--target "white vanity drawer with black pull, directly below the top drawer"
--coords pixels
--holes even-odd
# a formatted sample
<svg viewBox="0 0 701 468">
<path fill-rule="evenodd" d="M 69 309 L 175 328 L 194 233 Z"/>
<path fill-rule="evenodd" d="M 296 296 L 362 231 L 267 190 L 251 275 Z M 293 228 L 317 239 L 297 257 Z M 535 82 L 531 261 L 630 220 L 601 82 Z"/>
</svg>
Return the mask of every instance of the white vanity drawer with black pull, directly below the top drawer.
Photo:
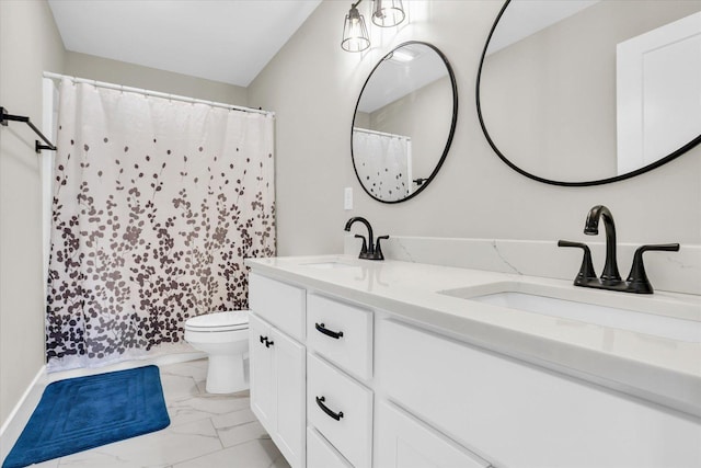
<svg viewBox="0 0 701 468">
<path fill-rule="evenodd" d="M 372 460 L 372 391 L 307 354 L 307 421 L 356 468 Z"/>
</svg>

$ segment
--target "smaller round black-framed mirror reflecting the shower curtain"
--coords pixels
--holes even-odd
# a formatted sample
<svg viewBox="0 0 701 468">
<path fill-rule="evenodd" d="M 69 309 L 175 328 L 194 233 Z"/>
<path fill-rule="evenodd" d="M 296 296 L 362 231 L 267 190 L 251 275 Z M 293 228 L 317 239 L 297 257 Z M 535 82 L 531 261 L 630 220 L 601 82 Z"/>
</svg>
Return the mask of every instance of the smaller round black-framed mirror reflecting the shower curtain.
<svg viewBox="0 0 701 468">
<path fill-rule="evenodd" d="M 457 118 L 456 79 L 440 50 L 409 42 L 387 54 L 353 118 L 350 151 L 363 189 L 383 203 L 416 196 L 446 159 Z"/>
</svg>

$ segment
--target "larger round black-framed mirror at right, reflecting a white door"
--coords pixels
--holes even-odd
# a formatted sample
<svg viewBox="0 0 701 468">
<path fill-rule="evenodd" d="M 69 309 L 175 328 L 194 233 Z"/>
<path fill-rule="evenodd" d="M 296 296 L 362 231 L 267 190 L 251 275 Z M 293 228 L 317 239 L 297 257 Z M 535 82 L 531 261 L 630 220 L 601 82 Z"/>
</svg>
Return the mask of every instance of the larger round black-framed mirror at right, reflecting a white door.
<svg viewBox="0 0 701 468">
<path fill-rule="evenodd" d="M 701 1 L 507 0 L 476 84 L 484 135 L 540 182 L 597 185 L 701 142 Z"/>
</svg>

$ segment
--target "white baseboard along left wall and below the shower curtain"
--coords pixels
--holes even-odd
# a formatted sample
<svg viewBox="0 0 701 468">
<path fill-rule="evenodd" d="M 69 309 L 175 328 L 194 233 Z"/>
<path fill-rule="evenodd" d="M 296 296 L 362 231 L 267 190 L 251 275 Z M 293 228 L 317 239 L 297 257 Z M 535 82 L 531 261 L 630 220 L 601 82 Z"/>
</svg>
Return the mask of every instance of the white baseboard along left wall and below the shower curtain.
<svg viewBox="0 0 701 468">
<path fill-rule="evenodd" d="M 0 0 L 1 1 L 1 0 Z M 185 363 L 187 361 L 202 359 L 207 357 L 207 353 L 203 352 L 188 352 L 188 353 L 174 353 L 174 354 L 161 354 L 153 357 L 148 357 L 138 361 L 125 361 L 117 364 L 112 364 L 104 367 L 95 367 L 95 368 L 80 368 L 80 369 L 70 369 L 57 373 L 48 374 L 46 372 L 46 366 L 42 366 L 39 372 L 36 374 L 32 384 L 27 387 L 27 389 L 22 395 L 20 401 L 15 404 L 15 407 L 10 412 L 8 419 L 2 423 L 2 427 L 0 427 L 0 460 L 4 460 L 5 457 L 10 454 L 10 450 L 14 446 L 14 443 L 22 434 L 22 430 L 26 425 L 32 412 L 38 404 L 42 399 L 42 395 L 44 393 L 44 389 L 46 386 L 53 381 L 64 380 L 67 378 L 73 377 L 84 377 L 89 375 L 95 374 L 104 374 L 114 370 L 123 370 L 130 369 L 134 367 L 146 366 L 150 364 L 154 364 L 157 366 L 164 366 L 169 364 L 177 364 Z"/>
</svg>

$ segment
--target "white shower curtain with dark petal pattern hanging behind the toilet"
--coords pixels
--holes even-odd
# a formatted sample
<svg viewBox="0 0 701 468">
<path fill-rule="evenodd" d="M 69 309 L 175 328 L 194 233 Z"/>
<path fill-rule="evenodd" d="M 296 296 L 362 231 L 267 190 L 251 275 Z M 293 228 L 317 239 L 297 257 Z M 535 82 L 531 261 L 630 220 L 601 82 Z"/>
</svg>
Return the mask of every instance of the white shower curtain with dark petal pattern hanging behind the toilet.
<svg viewBox="0 0 701 468">
<path fill-rule="evenodd" d="M 275 254 L 274 117 L 60 85 L 49 370 L 184 349 L 188 317 L 248 307 Z"/>
</svg>

